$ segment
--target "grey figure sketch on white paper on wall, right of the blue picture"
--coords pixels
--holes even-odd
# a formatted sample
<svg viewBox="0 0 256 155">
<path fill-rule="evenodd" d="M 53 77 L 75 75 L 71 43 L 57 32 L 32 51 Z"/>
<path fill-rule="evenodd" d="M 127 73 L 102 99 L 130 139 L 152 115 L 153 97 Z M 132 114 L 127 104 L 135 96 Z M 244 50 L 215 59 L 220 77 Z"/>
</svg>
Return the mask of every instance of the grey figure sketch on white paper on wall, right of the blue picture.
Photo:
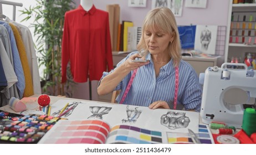
<svg viewBox="0 0 256 155">
<path fill-rule="evenodd" d="M 217 25 L 197 25 L 194 49 L 205 54 L 215 54 L 217 42 Z"/>
</svg>

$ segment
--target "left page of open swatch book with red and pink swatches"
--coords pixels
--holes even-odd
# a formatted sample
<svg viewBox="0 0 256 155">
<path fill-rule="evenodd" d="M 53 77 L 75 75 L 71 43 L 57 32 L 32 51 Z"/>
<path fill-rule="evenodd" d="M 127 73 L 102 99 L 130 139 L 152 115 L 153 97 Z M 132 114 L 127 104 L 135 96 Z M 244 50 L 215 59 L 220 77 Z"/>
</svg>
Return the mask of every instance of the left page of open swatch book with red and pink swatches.
<svg viewBox="0 0 256 155">
<path fill-rule="evenodd" d="M 103 144 L 110 126 L 101 120 L 60 120 L 38 143 L 45 144 Z"/>
</svg>

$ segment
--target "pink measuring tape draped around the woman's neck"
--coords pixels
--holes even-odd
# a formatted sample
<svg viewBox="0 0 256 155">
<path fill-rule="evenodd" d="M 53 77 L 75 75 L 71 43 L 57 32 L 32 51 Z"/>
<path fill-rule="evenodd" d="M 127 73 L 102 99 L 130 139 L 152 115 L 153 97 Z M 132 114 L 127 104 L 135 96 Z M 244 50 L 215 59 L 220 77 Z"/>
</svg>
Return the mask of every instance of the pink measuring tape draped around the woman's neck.
<svg viewBox="0 0 256 155">
<path fill-rule="evenodd" d="M 128 92 L 129 92 L 130 88 L 131 88 L 132 82 L 134 81 L 134 78 L 135 78 L 135 76 L 136 76 L 137 70 L 138 70 L 138 69 L 135 69 L 135 70 L 134 70 L 134 73 L 131 75 L 131 79 L 130 79 L 130 81 L 129 81 L 127 87 L 126 87 L 125 93 L 124 93 L 124 95 L 122 96 L 122 99 L 121 99 L 121 101 L 119 102 L 119 104 L 124 103 L 125 98 L 126 98 Z M 173 101 L 173 102 L 174 102 L 174 103 L 173 103 L 173 109 L 174 109 L 174 110 L 176 110 L 176 107 L 177 107 L 177 99 L 178 99 L 178 67 L 176 66 L 176 67 L 175 67 L 175 94 L 174 94 L 174 101 Z"/>
</svg>

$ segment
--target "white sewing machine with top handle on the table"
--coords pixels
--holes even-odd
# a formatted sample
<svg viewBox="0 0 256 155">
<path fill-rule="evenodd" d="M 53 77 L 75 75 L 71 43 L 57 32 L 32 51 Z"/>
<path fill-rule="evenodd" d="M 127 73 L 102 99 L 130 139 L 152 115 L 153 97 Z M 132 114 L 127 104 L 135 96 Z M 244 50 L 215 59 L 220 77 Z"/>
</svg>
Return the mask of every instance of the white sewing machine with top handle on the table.
<svg viewBox="0 0 256 155">
<path fill-rule="evenodd" d="M 244 69 L 229 69 L 227 65 L 243 66 Z M 242 128 L 244 105 L 255 106 L 255 102 L 256 70 L 233 63 L 206 69 L 200 112 L 203 123 L 220 121 Z"/>
</svg>

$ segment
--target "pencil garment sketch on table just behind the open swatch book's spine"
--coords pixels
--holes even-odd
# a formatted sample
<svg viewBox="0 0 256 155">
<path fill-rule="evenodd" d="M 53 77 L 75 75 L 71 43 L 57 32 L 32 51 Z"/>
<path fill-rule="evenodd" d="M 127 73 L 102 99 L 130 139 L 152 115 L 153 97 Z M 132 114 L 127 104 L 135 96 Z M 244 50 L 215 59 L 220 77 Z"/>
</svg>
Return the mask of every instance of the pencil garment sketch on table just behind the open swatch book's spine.
<svg viewBox="0 0 256 155">
<path fill-rule="evenodd" d="M 103 119 L 103 115 L 106 115 L 112 109 L 112 107 L 104 106 L 90 106 L 89 108 L 93 115 L 89 116 L 88 118 L 99 118 L 101 120 Z"/>
</svg>

